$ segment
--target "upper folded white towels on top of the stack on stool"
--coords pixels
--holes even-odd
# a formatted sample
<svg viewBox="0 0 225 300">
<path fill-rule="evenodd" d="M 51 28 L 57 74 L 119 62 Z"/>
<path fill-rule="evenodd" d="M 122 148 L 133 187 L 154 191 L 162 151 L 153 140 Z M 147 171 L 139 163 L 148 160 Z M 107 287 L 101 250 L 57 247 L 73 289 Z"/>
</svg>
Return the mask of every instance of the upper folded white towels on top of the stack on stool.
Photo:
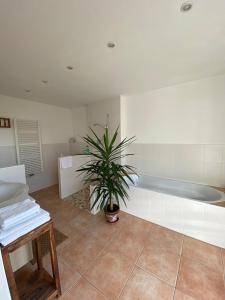
<svg viewBox="0 0 225 300">
<path fill-rule="evenodd" d="M 0 208 L 0 227 L 7 229 L 20 224 L 40 211 L 40 205 L 30 199 Z"/>
</svg>

